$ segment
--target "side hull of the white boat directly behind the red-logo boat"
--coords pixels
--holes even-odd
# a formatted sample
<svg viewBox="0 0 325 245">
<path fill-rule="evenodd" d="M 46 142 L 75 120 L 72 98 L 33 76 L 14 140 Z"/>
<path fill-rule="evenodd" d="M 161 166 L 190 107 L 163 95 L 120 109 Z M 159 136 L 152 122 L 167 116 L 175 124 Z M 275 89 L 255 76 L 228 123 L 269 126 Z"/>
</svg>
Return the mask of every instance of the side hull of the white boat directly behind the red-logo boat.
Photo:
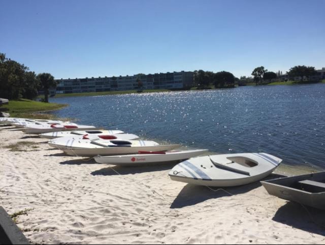
<svg viewBox="0 0 325 245">
<path fill-rule="evenodd" d="M 136 154 L 139 151 L 170 151 L 180 145 L 157 145 L 157 146 L 136 146 L 136 147 L 104 147 L 104 148 L 78 148 L 62 149 L 62 151 L 71 156 L 93 157 L 93 156 L 110 156 Z"/>
</svg>

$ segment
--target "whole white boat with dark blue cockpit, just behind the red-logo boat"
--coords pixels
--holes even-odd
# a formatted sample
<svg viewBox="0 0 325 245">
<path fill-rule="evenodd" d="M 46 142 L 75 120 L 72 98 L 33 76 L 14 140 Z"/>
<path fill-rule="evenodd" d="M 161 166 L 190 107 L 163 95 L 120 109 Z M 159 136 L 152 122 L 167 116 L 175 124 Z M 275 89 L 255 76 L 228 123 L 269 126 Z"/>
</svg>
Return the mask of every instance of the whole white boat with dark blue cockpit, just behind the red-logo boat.
<svg viewBox="0 0 325 245">
<path fill-rule="evenodd" d="M 51 146 L 51 143 L 49 142 Z M 72 146 L 72 147 L 71 147 Z M 154 141 L 122 141 L 122 140 L 74 140 L 71 146 L 61 148 L 71 156 L 108 156 L 136 154 L 139 151 L 169 151 L 180 145 L 159 145 Z M 56 147 L 56 146 L 53 146 Z"/>
</svg>

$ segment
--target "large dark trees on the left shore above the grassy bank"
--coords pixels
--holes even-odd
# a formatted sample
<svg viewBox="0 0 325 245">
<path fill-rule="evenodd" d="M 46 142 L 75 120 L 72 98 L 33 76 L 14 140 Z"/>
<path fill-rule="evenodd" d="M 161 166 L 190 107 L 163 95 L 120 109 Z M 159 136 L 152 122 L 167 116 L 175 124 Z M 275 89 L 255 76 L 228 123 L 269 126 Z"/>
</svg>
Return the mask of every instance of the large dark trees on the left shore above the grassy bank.
<svg viewBox="0 0 325 245">
<path fill-rule="evenodd" d="M 36 74 L 17 61 L 0 53 L 0 97 L 11 100 L 35 99 L 39 90 L 44 90 L 48 102 L 49 89 L 57 84 L 50 73 Z"/>
</svg>

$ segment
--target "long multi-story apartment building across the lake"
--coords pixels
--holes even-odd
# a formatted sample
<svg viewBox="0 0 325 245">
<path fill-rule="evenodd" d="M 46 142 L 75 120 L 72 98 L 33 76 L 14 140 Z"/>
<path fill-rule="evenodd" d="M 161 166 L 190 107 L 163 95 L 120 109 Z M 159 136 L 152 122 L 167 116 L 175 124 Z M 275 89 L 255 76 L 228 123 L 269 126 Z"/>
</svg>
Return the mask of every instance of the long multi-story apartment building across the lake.
<svg viewBox="0 0 325 245">
<path fill-rule="evenodd" d="M 57 94 L 126 91 L 135 89 L 187 89 L 193 84 L 193 72 L 167 72 L 118 77 L 57 79 Z M 140 85 L 140 87 L 139 87 Z"/>
</svg>

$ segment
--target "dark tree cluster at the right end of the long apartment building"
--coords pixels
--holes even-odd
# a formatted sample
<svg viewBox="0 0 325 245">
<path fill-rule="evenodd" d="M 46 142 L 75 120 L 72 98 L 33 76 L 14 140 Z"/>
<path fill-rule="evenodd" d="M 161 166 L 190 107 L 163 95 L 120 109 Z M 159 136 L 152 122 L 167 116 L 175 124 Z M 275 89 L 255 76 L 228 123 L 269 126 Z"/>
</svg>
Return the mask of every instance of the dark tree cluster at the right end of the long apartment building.
<svg viewBox="0 0 325 245">
<path fill-rule="evenodd" d="M 214 86 L 215 88 L 230 88 L 235 86 L 236 80 L 239 79 L 228 71 L 219 71 L 216 73 L 204 70 L 194 71 L 194 86 L 199 89 L 210 86 Z"/>
</svg>

